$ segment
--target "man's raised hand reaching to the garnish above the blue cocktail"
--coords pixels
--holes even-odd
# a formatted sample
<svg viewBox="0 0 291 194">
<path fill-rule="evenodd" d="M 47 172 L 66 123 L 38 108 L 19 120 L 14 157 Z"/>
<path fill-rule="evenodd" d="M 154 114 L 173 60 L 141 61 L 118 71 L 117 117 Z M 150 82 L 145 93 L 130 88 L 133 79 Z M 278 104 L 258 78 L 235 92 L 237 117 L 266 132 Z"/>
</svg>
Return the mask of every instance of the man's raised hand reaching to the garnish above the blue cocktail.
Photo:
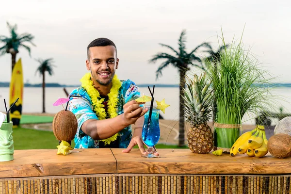
<svg viewBox="0 0 291 194">
<path fill-rule="evenodd" d="M 123 106 L 123 119 L 127 125 L 134 124 L 139 117 L 148 111 L 148 109 L 143 110 L 143 107 L 139 105 L 140 103 L 131 100 Z"/>
</svg>

